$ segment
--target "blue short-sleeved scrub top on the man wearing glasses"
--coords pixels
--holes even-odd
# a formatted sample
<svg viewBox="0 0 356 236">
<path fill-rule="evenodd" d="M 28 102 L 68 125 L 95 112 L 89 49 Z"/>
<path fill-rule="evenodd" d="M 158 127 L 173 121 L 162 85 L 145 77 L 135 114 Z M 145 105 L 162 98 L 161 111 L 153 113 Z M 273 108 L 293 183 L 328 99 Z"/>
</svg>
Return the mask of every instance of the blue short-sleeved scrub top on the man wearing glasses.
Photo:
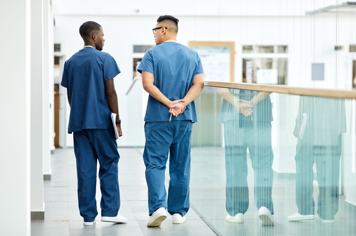
<svg viewBox="0 0 356 236">
<path fill-rule="evenodd" d="M 198 53 L 179 43 L 166 42 L 146 51 L 137 71 L 147 71 L 155 76 L 153 84 L 171 101 L 183 99 L 192 87 L 195 75 L 204 73 Z M 167 106 L 148 97 L 146 122 L 169 121 Z M 192 101 L 183 114 L 172 120 L 197 122 L 195 103 Z"/>
</svg>

